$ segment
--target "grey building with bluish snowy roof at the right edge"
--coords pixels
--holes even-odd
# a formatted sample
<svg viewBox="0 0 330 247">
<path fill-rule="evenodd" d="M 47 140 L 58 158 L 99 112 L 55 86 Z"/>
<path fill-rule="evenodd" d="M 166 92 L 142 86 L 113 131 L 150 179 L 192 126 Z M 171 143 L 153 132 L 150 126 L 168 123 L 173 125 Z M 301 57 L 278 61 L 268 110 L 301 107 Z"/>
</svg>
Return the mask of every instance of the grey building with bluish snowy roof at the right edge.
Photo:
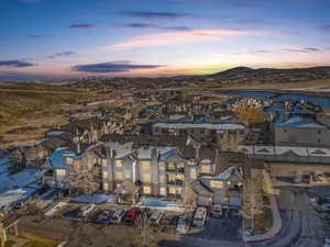
<svg viewBox="0 0 330 247">
<path fill-rule="evenodd" d="M 330 128 L 312 119 L 293 116 L 274 124 L 275 145 L 330 146 Z"/>
</svg>

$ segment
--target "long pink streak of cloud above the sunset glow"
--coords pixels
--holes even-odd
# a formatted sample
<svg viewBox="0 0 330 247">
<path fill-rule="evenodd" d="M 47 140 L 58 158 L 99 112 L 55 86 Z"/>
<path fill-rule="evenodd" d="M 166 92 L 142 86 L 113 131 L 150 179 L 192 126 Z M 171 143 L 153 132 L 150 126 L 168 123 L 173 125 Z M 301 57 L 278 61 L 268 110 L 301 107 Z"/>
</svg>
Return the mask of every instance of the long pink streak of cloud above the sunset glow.
<svg viewBox="0 0 330 247">
<path fill-rule="evenodd" d="M 122 43 L 106 46 L 102 48 L 102 50 L 121 50 L 121 49 L 130 49 L 130 48 L 187 44 L 187 43 L 206 42 L 206 41 L 216 42 L 216 41 L 222 41 L 231 36 L 257 35 L 257 34 L 260 33 L 253 31 L 246 31 L 246 30 L 234 30 L 234 29 L 187 30 L 180 32 L 166 32 L 166 33 L 141 35 Z"/>
</svg>

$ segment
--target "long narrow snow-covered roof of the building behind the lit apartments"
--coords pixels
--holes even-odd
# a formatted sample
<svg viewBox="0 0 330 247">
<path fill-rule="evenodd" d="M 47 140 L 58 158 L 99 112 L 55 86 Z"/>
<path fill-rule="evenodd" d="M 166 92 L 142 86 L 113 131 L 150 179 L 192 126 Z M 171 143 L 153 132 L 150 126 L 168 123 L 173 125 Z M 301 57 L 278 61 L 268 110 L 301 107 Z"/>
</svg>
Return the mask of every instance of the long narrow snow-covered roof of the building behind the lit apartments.
<svg viewBox="0 0 330 247">
<path fill-rule="evenodd" d="M 160 128 L 208 128 L 208 130 L 244 130 L 242 124 L 232 123 L 156 123 L 153 127 Z"/>
</svg>

